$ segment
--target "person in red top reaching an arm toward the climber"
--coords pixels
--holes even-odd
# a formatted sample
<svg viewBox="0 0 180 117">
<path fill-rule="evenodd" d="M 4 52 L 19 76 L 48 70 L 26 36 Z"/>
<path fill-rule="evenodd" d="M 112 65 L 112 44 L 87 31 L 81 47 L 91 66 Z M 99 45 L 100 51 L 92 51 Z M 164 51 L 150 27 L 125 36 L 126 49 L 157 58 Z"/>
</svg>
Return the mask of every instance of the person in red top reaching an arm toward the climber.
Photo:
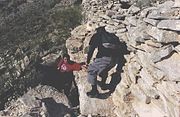
<svg viewBox="0 0 180 117">
<path fill-rule="evenodd" d="M 66 95 L 69 95 L 72 82 L 74 81 L 73 71 L 80 71 L 85 67 L 84 64 L 83 62 L 76 63 L 71 61 L 68 54 L 64 54 L 62 59 L 59 60 L 57 69 L 60 71 L 60 76 L 64 80 L 64 93 Z"/>
</svg>

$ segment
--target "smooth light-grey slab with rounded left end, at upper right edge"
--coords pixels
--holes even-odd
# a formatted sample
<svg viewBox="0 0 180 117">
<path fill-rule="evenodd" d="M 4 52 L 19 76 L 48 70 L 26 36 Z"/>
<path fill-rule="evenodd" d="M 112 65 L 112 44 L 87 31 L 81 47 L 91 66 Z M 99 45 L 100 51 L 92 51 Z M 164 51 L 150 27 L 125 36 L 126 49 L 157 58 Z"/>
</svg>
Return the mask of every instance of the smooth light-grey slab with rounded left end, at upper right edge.
<svg viewBox="0 0 180 117">
<path fill-rule="evenodd" d="M 180 31 L 180 20 L 162 20 L 157 25 L 161 29 Z"/>
</svg>

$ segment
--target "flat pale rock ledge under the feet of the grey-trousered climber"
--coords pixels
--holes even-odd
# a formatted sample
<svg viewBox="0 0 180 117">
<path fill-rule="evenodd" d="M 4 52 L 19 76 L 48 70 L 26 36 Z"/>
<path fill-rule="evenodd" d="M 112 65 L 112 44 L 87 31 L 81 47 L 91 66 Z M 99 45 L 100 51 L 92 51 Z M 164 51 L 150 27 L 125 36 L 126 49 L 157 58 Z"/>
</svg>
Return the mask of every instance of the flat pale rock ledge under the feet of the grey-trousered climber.
<svg viewBox="0 0 180 117">
<path fill-rule="evenodd" d="M 80 100 L 80 113 L 82 115 L 101 115 L 114 116 L 112 97 L 107 92 L 100 92 L 101 98 L 89 98 L 86 92 L 90 91 L 90 84 L 87 81 L 87 75 L 80 73 L 80 79 L 77 81 Z M 100 88 L 98 89 L 100 91 Z M 108 98 L 107 98 L 108 97 Z M 104 98 L 104 99 L 103 99 Z"/>
</svg>

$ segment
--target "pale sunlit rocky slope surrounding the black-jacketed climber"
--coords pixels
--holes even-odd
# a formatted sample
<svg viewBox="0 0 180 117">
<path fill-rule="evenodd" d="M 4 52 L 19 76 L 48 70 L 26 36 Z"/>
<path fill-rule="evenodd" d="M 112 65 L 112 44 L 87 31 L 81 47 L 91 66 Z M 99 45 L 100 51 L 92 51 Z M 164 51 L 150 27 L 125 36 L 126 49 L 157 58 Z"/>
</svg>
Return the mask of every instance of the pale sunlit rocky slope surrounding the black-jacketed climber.
<svg viewBox="0 0 180 117">
<path fill-rule="evenodd" d="M 73 30 L 66 41 L 73 59 L 85 60 L 88 42 L 99 26 L 106 26 L 108 32 L 125 42 L 130 54 L 124 55 L 126 63 L 120 83 L 114 84 L 115 91 L 102 91 L 98 87 L 102 99 L 88 98 L 87 74 L 84 71 L 76 74 L 81 114 L 179 117 L 179 1 L 84 0 L 82 5 L 85 23 Z M 114 69 L 109 72 L 110 85 L 117 78 L 114 73 Z"/>
</svg>

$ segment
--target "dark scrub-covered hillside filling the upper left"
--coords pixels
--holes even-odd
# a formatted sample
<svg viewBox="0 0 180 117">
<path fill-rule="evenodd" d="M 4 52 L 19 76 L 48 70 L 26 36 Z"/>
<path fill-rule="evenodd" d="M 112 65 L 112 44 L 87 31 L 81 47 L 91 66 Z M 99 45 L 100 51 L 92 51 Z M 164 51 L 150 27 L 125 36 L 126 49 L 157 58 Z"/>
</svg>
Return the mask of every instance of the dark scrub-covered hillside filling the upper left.
<svg viewBox="0 0 180 117">
<path fill-rule="evenodd" d="M 40 83 L 35 69 L 39 59 L 54 63 L 66 51 L 70 30 L 81 23 L 79 3 L 81 0 L 0 1 L 0 109 Z"/>
</svg>

